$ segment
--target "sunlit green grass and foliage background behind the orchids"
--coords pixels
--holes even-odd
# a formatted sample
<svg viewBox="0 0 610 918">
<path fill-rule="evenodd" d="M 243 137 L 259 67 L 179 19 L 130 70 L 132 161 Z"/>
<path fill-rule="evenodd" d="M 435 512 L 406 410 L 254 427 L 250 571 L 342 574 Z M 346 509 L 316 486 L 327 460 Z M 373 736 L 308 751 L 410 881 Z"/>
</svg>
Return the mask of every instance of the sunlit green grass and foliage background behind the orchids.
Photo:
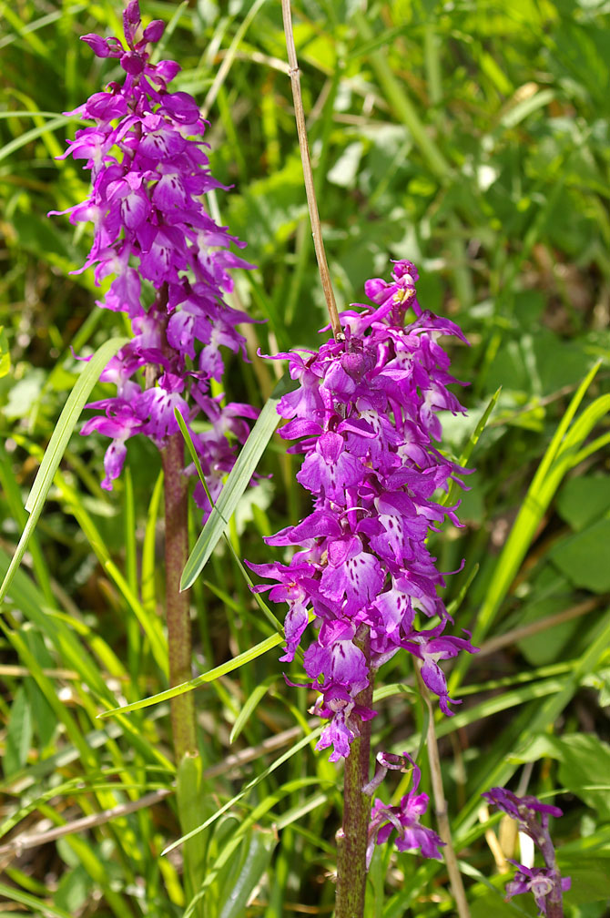
<svg viewBox="0 0 610 918">
<path fill-rule="evenodd" d="M 120 35 L 109 2 L 0 4 L 0 570 L 61 407 L 88 354 L 125 333 L 94 307 L 80 267 L 87 228 L 47 218 L 83 199 L 88 174 L 56 161 L 77 125 L 61 113 L 113 78 L 87 32 Z M 277 364 L 326 324 L 295 140 L 279 4 L 142 3 L 171 22 L 162 56 L 210 119 L 213 206 L 259 270 L 236 298 L 266 319 L 226 391 L 261 406 Z M 330 270 L 339 305 L 390 258 L 420 269 L 420 301 L 460 322 L 452 354 L 474 446 L 461 530 L 435 537 L 456 628 L 482 651 L 451 679 L 463 704 L 439 719 L 443 777 L 473 918 L 534 914 L 503 902 L 480 793 L 495 783 L 555 794 L 571 918 L 610 914 L 610 336 L 606 5 L 296 2 L 295 38 Z M 601 361 L 595 373 L 590 372 Z M 584 383 L 583 383 L 584 381 Z M 104 386 L 99 386 L 103 397 Z M 109 391 L 109 389 L 108 389 Z M 167 688 L 160 462 L 129 442 L 112 495 L 104 438 L 73 436 L 3 607 L 0 637 L 2 913 L 279 918 L 331 914 L 340 774 L 313 752 L 305 689 L 277 651 L 197 689 L 201 762 L 178 776 L 167 702 L 97 715 Z M 229 527 L 238 558 L 307 512 L 294 457 L 273 440 Z M 193 512 L 193 542 L 200 532 Z M 192 591 L 194 673 L 273 633 L 218 543 Z M 281 609 L 274 609 L 282 617 Z M 298 667 L 291 670 L 298 680 Z M 383 670 L 374 748 L 415 752 L 425 713 L 410 659 Z M 422 788 L 429 791 L 425 753 Z M 199 767 L 199 765 L 201 767 Z M 190 789 L 190 794 L 188 792 Z M 400 796 L 388 783 L 384 800 Z M 150 797 L 149 795 L 153 795 Z M 147 805 L 129 812 L 145 799 Z M 187 814 L 194 836 L 180 836 Z M 112 818 L 111 818 L 112 814 Z M 81 826 L 81 819 L 88 822 Z M 57 829 L 61 837 L 49 833 Z M 497 825 L 495 826 L 497 830 Z M 30 841 L 28 841 L 30 839 Z M 445 868 L 378 850 L 368 915 L 453 913 Z"/>
</svg>

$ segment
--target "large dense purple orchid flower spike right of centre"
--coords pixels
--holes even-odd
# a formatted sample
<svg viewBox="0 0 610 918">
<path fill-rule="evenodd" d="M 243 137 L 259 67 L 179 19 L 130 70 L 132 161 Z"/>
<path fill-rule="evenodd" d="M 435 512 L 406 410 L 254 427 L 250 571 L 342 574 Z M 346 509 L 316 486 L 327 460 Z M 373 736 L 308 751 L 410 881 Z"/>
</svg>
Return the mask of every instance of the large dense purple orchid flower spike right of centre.
<svg viewBox="0 0 610 918">
<path fill-rule="evenodd" d="M 340 340 L 304 356 L 278 355 L 299 383 L 278 404 L 289 421 L 281 433 L 300 441 L 289 452 L 305 453 L 296 477 L 313 494 L 314 511 L 265 540 L 300 547 L 288 564 L 250 567 L 276 581 L 257 591 L 271 589 L 270 599 L 288 603 L 282 660 L 293 660 L 308 611 L 316 615 L 305 671 L 321 692 L 316 711 L 329 719 L 317 748 L 333 745 L 331 761 L 349 755 L 359 722 L 374 716 L 358 695 L 399 649 L 421 661 L 447 714 L 438 661 L 474 650 L 467 638 L 444 633 L 451 621 L 437 593 L 444 581 L 427 549 L 429 530 L 446 517 L 460 525 L 456 508 L 433 496 L 465 470 L 433 440 L 440 439 L 440 409 L 464 410 L 447 387 L 456 380 L 438 338 L 465 339 L 449 319 L 421 310 L 416 280 L 413 264 L 394 263 L 389 283 L 365 285 L 375 308 L 354 304 L 360 309 L 341 314 Z M 405 326 L 408 308 L 415 320 Z M 436 621 L 420 629 L 419 614 Z"/>
</svg>

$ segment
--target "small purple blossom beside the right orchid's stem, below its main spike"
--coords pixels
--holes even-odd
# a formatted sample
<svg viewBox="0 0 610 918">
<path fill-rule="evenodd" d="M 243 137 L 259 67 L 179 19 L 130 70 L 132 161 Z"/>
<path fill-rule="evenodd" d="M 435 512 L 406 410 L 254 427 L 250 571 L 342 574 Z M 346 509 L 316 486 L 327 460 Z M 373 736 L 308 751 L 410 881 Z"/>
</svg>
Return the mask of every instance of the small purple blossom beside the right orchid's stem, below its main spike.
<svg viewBox="0 0 610 918">
<path fill-rule="evenodd" d="M 396 847 L 399 851 L 419 850 L 424 857 L 442 860 L 440 846 L 445 843 L 432 829 L 419 822 L 427 811 L 427 794 L 418 794 L 421 771 L 407 753 L 403 756 L 413 766 L 413 788 L 400 801 L 399 806 L 390 806 L 375 800 L 372 805 L 371 822 L 369 823 L 369 844 L 367 846 L 367 868 L 371 864 L 374 845 L 387 842 L 393 830 L 396 830 Z"/>
</svg>

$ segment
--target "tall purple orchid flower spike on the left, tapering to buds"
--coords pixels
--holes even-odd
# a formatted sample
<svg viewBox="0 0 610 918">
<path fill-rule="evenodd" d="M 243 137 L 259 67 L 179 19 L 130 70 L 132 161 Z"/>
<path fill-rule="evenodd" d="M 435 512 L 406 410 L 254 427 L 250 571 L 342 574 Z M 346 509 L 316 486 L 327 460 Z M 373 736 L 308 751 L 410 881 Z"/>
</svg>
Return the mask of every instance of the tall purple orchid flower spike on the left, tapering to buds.
<svg viewBox="0 0 610 918">
<path fill-rule="evenodd" d="M 250 319 L 224 297 L 233 287 L 227 269 L 252 265 L 230 252 L 232 243 L 245 243 L 217 226 L 202 204 L 205 192 L 223 186 L 209 172 L 205 121 L 194 99 L 168 89 L 179 65 L 150 63 L 147 49 L 161 39 L 164 24 L 155 20 L 142 31 L 138 0 L 128 4 L 123 21 L 127 48 L 116 38 L 83 36 L 97 57 L 116 58 L 126 76 L 71 113 L 94 125 L 77 130 L 64 154 L 85 160 L 92 174 L 91 195 L 63 211 L 72 223 L 94 223 L 81 270 L 95 265 L 98 285 L 114 276 L 98 305 L 127 313 L 134 333 L 101 376 L 116 385 L 116 397 L 87 406 L 102 413 L 82 432 L 112 438 L 102 482 L 111 490 L 129 437 L 144 433 L 162 447 L 179 431 L 174 409 L 187 422 L 201 414 L 208 429 L 193 439 L 216 498 L 234 463 L 227 433 L 244 442 L 244 419 L 257 413 L 249 405 L 223 407 L 209 392 L 210 380 L 219 381 L 224 369 L 220 346 L 245 356 L 236 325 Z M 195 499 L 209 511 L 200 484 Z"/>
</svg>

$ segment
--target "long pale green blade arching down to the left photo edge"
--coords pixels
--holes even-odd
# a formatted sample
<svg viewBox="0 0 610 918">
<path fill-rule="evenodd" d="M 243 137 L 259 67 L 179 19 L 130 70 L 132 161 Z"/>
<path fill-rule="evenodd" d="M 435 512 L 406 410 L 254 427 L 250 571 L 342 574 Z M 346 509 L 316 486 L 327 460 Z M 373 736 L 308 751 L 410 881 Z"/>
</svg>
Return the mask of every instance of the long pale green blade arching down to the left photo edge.
<svg viewBox="0 0 610 918">
<path fill-rule="evenodd" d="M 17 545 L 17 550 L 6 571 L 6 577 L 2 582 L 2 586 L 0 586 L 0 600 L 4 599 L 6 596 L 6 592 L 15 575 L 15 571 L 25 554 L 30 535 L 34 532 L 36 524 L 39 521 L 39 516 L 45 500 L 47 499 L 47 495 L 49 494 L 53 477 L 59 468 L 61 456 L 68 445 L 76 421 L 89 398 L 91 390 L 110 358 L 127 342 L 127 338 L 111 338 L 109 341 L 104 342 L 84 367 L 82 374 L 78 377 L 78 381 L 61 411 L 60 420 L 58 420 L 57 426 L 52 433 L 38 475 L 34 480 L 28 500 L 26 501 L 29 519 Z"/>
</svg>

